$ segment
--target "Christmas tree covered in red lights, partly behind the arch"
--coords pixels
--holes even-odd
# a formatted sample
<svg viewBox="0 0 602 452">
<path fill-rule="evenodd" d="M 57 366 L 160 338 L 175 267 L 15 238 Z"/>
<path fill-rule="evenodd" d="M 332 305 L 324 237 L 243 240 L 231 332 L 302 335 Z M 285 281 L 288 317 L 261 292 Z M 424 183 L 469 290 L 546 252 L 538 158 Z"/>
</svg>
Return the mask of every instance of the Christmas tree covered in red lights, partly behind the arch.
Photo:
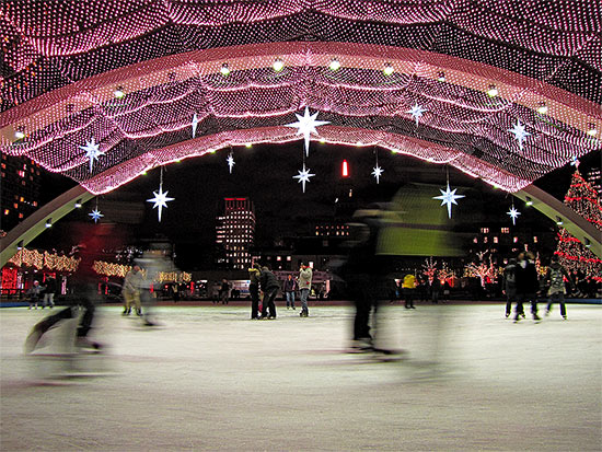
<svg viewBox="0 0 602 452">
<path fill-rule="evenodd" d="M 579 170 L 572 175 L 570 187 L 565 196 L 565 205 L 602 231 L 600 197 L 581 176 Z M 586 276 L 597 279 L 602 277 L 602 260 L 564 228 L 558 232 L 558 246 L 555 254 L 569 271 L 580 270 Z"/>
</svg>

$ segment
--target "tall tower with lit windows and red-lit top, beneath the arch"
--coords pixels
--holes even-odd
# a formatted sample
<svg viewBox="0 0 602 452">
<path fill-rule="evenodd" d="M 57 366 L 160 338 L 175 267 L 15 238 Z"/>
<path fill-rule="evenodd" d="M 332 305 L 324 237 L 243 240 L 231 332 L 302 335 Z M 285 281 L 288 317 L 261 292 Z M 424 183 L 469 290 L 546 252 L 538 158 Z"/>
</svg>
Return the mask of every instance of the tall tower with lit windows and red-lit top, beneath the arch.
<svg viewBox="0 0 602 452">
<path fill-rule="evenodd" d="M 248 198 L 223 198 L 216 225 L 216 264 L 221 268 L 244 269 L 251 265 L 255 237 L 255 209 Z"/>
</svg>

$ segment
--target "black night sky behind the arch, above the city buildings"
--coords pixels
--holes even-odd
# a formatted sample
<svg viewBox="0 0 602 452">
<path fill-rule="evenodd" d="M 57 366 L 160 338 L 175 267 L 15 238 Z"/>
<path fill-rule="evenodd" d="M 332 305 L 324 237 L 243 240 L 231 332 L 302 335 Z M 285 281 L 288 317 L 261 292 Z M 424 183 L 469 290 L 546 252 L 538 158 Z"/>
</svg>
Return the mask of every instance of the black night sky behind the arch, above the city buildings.
<svg viewBox="0 0 602 452">
<path fill-rule="evenodd" d="M 418 159 L 375 148 L 337 147 L 311 143 L 305 165 L 315 174 L 302 193 L 301 184 L 292 176 L 302 169 L 302 140 L 286 144 L 255 144 L 253 148 L 235 148 L 236 164 L 232 174 L 225 162 L 229 151 L 222 150 L 202 158 L 193 158 L 174 163 L 164 169 L 163 190 L 169 190 L 174 201 L 163 209 L 162 222 L 158 222 L 157 209 L 146 199 L 158 190 L 160 170 L 99 197 L 99 208 L 105 215 L 103 221 L 123 224 L 123 231 L 130 243 L 140 239 L 164 236 L 175 243 L 180 266 L 183 269 L 209 267 L 215 241 L 215 218 L 219 213 L 220 201 L 224 197 L 250 197 L 255 205 L 256 244 L 269 246 L 279 236 L 310 234 L 312 225 L 333 216 L 335 199 L 348 199 L 349 189 L 357 207 L 374 201 L 389 201 L 409 183 L 435 184 L 432 196 L 438 188 L 444 188 L 444 165 L 435 165 Z M 380 184 L 371 175 L 378 152 L 379 165 L 384 170 Z M 346 159 L 350 177 L 340 176 L 340 165 Z M 581 159 L 581 170 L 600 166 L 600 152 Z M 536 182 L 536 185 L 554 196 L 566 194 L 572 166 L 565 166 Z M 453 207 L 454 221 L 465 225 L 493 219 L 506 221 L 512 197 L 495 190 L 479 179 L 470 177 L 449 167 L 452 189 L 466 195 Z M 44 201 L 50 200 L 73 185 L 61 176 L 46 174 Z M 68 250 L 72 237 L 72 222 L 90 222 L 88 213 L 95 206 L 89 201 L 81 211 L 74 211 L 51 231 L 45 232 L 32 244 L 34 247 L 56 247 Z M 519 201 L 520 202 L 520 201 Z M 429 206 L 427 206 L 428 208 Z M 441 208 L 432 200 L 432 208 Z M 519 209 L 520 210 L 520 209 Z M 339 210 L 340 211 L 340 210 Z M 523 212 L 520 221 L 541 220 L 539 212 Z"/>
</svg>

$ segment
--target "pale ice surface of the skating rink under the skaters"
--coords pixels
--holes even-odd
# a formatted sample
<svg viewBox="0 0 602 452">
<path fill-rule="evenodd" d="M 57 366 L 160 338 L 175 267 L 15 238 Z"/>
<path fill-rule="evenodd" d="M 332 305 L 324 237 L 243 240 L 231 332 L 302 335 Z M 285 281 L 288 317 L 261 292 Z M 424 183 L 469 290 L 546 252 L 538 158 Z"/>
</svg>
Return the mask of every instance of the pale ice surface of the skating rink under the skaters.
<svg viewBox="0 0 602 452">
<path fill-rule="evenodd" d="M 400 362 L 341 352 L 352 311 L 163 306 L 160 328 L 100 310 L 103 357 L 24 357 L 48 313 L 0 310 L 2 451 L 600 451 L 602 308 L 513 324 L 501 304 L 387 306 Z M 543 306 L 542 306 L 543 308 Z M 38 354 L 58 350 L 51 332 Z M 385 328 L 381 328 L 384 331 Z"/>
</svg>

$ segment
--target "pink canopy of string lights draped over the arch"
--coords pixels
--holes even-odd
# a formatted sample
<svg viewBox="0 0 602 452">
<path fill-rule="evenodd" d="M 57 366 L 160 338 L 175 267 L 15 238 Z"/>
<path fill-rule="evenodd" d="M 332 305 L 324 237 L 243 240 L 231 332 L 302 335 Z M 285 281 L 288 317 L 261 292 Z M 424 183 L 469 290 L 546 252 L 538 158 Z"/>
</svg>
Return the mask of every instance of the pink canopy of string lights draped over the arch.
<svg viewBox="0 0 602 452">
<path fill-rule="evenodd" d="M 328 142 L 449 163 L 509 192 L 600 149 L 597 2 L 76 3 L 61 14 L 7 0 L 0 123 L 19 124 L 27 140 L 2 130 L 0 152 L 35 158 L 95 194 L 220 146 L 290 141 L 278 126 L 304 106 L 327 115 Z M 405 114 L 414 105 L 429 109 L 419 129 Z M 195 114 L 211 127 L 193 127 L 190 140 Z M 517 123 L 533 135 L 524 148 L 508 134 Z M 91 137 L 106 157 L 83 157 Z"/>
</svg>

